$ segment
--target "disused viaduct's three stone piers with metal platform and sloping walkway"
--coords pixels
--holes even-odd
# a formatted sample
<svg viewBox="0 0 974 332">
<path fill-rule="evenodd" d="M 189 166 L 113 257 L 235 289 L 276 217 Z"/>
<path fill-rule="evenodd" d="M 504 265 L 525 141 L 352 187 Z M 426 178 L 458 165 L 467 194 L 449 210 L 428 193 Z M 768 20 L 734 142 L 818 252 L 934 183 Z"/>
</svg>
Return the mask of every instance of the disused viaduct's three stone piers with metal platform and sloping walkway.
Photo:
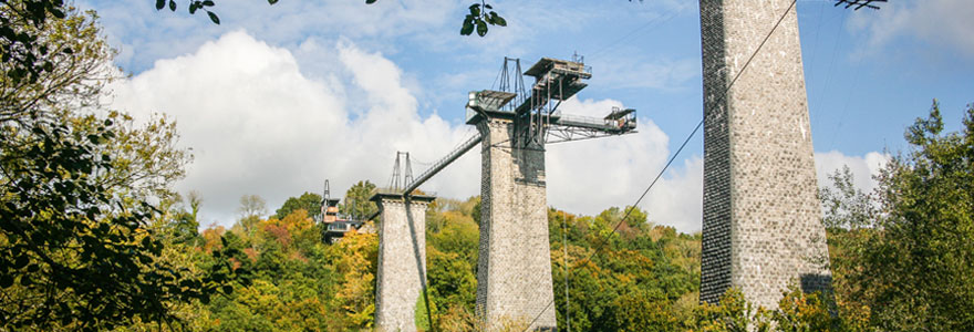
<svg viewBox="0 0 974 332">
<path fill-rule="evenodd" d="M 701 301 L 734 287 L 765 308 L 781 290 L 828 290 L 828 248 L 816 198 L 798 19 L 792 0 L 701 0 L 704 85 L 704 217 Z M 783 15 L 784 14 L 784 15 Z M 757 52 L 760 48 L 760 52 Z M 752 61 L 749 58 L 756 54 Z M 749 64 L 748 64 L 749 63 Z M 746 69 L 746 70 L 745 70 Z M 505 63 L 505 73 L 507 61 Z M 479 135 L 403 193 L 480 145 L 481 227 L 477 314 L 481 329 L 509 322 L 557 330 L 548 245 L 545 148 L 630 133 L 632 110 L 601 120 L 562 115 L 551 103 L 584 87 L 580 61 L 542 59 L 525 72 L 531 92 L 473 92 L 467 123 Z M 520 75 L 519 63 L 517 75 Z M 521 83 L 521 89 L 524 84 Z M 515 100 L 514 103 L 511 101 Z M 519 105 L 518 105 L 519 104 Z M 434 198 L 380 194 L 376 328 L 415 331 L 425 301 L 425 208 Z"/>
</svg>

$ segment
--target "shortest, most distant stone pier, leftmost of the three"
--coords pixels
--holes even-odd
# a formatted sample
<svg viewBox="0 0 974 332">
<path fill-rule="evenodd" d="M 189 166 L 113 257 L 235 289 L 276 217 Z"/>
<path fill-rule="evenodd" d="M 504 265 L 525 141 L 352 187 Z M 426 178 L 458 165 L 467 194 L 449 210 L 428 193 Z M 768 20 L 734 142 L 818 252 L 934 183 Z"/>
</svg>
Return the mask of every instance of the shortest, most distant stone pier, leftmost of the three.
<svg viewBox="0 0 974 332">
<path fill-rule="evenodd" d="M 376 194 L 379 271 L 375 282 L 377 331 L 416 331 L 416 304 L 426 292 L 426 206 L 429 196 Z M 428 308 L 428 305 L 427 305 Z M 427 311 L 428 312 L 428 311 Z"/>
</svg>

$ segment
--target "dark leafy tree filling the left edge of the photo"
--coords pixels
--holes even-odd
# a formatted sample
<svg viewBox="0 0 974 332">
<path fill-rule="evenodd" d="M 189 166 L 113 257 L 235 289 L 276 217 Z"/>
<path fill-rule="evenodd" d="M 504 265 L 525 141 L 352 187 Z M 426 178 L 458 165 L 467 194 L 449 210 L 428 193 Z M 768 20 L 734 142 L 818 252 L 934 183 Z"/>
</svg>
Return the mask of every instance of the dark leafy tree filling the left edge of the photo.
<svg viewBox="0 0 974 332">
<path fill-rule="evenodd" d="M 110 79 L 95 15 L 30 0 L 3 1 L 0 13 L 0 329 L 168 323 L 172 303 L 208 301 L 228 279 L 225 266 L 196 273 L 160 258 L 151 227 L 160 210 L 136 194 L 168 191 L 155 179 L 182 175 L 164 168 L 182 167 L 185 154 L 144 145 L 175 136 L 128 126 L 121 113 L 85 113 L 101 110 Z M 135 136 L 148 139 L 126 141 L 139 152 L 128 154 L 118 142 Z"/>
</svg>

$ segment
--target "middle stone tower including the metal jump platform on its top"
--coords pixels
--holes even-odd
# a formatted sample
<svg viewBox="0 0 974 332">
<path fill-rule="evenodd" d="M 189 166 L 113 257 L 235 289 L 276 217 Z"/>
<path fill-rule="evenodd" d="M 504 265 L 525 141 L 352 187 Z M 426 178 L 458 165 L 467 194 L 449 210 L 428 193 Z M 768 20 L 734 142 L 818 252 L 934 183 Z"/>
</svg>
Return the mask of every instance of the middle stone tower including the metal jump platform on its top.
<svg viewBox="0 0 974 332">
<path fill-rule="evenodd" d="M 483 164 L 477 315 L 485 331 L 555 331 L 545 144 L 635 133 L 635 110 L 612 107 L 602 118 L 556 112 L 588 85 L 591 68 L 582 59 L 541 58 L 524 73 L 520 60 L 504 61 L 500 91 L 470 92 L 467 104 Z M 535 77 L 530 92 L 522 76 Z"/>
</svg>

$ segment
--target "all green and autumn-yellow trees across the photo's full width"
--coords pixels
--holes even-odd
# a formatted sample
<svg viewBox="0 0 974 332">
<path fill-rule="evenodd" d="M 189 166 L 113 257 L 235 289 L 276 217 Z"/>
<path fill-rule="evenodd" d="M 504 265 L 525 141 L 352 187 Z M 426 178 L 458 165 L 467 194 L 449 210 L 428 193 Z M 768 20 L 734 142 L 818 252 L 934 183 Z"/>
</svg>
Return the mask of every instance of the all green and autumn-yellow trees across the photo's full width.
<svg viewBox="0 0 974 332">
<path fill-rule="evenodd" d="M 323 243 L 321 197 L 309 193 L 272 216 L 246 195 L 232 227 L 200 232 L 204 197 L 172 190 L 191 159 L 175 123 L 137 124 L 99 102 L 115 72 L 95 14 L 29 3 L 40 2 L 0 3 L 0 331 L 372 328 L 376 235 Z M 911 149 L 875 193 L 857 190 L 848 170 L 821 191 L 835 291 L 783 290 L 775 311 L 734 290 L 719 305 L 697 303 L 700 235 L 640 209 L 549 209 L 559 325 L 974 330 L 974 106 L 960 132 L 944 133 L 934 103 L 905 138 Z M 374 190 L 360 181 L 342 211 L 371 215 Z M 416 313 L 425 330 L 477 328 L 479 210 L 477 197 L 429 206 L 431 305 Z"/>
</svg>

